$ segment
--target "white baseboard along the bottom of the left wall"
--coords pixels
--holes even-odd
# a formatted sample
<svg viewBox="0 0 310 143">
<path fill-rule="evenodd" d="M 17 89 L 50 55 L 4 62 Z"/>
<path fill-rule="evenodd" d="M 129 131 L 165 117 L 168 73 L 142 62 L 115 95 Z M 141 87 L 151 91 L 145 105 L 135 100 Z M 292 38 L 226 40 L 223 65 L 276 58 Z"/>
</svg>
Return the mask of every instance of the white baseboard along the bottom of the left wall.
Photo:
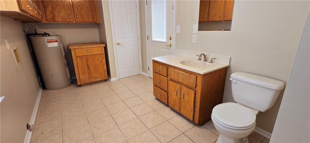
<svg viewBox="0 0 310 143">
<path fill-rule="evenodd" d="M 35 118 L 37 116 L 37 112 L 38 112 L 39 104 L 40 104 L 40 100 L 41 100 L 41 95 L 42 95 L 42 88 L 40 88 L 40 90 L 39 90 L 39 93 L 38 93 L 38 96 L 37 96 L 37 100 L 35 101 L 35 104 L 34 104 L 34 107 L 33 107 L 31 119 L 30 119 L 30 122 L 29 122 L 31 127 L 34 127 Z M 32 131 L 27 130 L 24 143 L 30 143 L 31 136 L 32 136 Z"/>
</svg>

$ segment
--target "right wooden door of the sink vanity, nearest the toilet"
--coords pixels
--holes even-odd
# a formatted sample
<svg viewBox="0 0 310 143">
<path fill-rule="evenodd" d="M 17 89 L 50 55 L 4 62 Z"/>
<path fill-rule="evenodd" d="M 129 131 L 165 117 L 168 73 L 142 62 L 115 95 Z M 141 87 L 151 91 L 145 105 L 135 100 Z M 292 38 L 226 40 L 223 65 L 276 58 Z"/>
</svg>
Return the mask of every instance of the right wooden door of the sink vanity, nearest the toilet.
<svg viewBox="0 0 310 143">
<path fill-rule="evenodd" d="M 180 113 L 191 121 L 193 121 L 194 116 L 195 93 L 195 90 L 181 86 Z"/>
</svg>

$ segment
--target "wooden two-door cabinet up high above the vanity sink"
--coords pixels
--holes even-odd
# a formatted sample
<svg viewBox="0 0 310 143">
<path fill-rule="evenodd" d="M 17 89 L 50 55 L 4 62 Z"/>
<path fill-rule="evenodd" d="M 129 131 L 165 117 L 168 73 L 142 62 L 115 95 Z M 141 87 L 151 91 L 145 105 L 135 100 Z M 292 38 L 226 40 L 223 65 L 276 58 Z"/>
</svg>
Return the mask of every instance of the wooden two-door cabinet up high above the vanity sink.
<svg viewBox="0 0 310 143">
<path fill-rule="evenodd" d="M 200 0 L 199 22 L 232 20 L 234 0 Z"/>
</svg>

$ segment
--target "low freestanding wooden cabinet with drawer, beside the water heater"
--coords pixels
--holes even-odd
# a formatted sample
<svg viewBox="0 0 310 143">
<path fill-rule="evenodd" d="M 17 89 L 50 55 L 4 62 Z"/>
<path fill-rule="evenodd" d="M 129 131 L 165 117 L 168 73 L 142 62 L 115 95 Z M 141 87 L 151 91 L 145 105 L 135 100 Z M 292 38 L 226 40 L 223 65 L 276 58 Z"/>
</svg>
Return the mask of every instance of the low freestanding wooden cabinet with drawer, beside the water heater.
<svg viewBox="0 0 310 143">
<path fill-rule="evenodd" d="M 78 85 L 108 79 L 104 44 L 68 44 Z"/>
</svg>

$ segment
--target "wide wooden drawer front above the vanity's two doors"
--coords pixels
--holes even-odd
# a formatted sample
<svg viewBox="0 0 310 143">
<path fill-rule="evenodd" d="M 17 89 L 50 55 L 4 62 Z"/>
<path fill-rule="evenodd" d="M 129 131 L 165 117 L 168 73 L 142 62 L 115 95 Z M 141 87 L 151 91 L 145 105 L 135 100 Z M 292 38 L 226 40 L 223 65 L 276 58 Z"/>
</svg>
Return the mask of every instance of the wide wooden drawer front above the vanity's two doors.
<svg viewBox="0 0 310 143">
<path fill-rule="evenodd" d="M 196 88 L 196 76 L 169 68 L 169 77 L 170 79 L 181 82 L 189 87 Z"/>
</svg>

